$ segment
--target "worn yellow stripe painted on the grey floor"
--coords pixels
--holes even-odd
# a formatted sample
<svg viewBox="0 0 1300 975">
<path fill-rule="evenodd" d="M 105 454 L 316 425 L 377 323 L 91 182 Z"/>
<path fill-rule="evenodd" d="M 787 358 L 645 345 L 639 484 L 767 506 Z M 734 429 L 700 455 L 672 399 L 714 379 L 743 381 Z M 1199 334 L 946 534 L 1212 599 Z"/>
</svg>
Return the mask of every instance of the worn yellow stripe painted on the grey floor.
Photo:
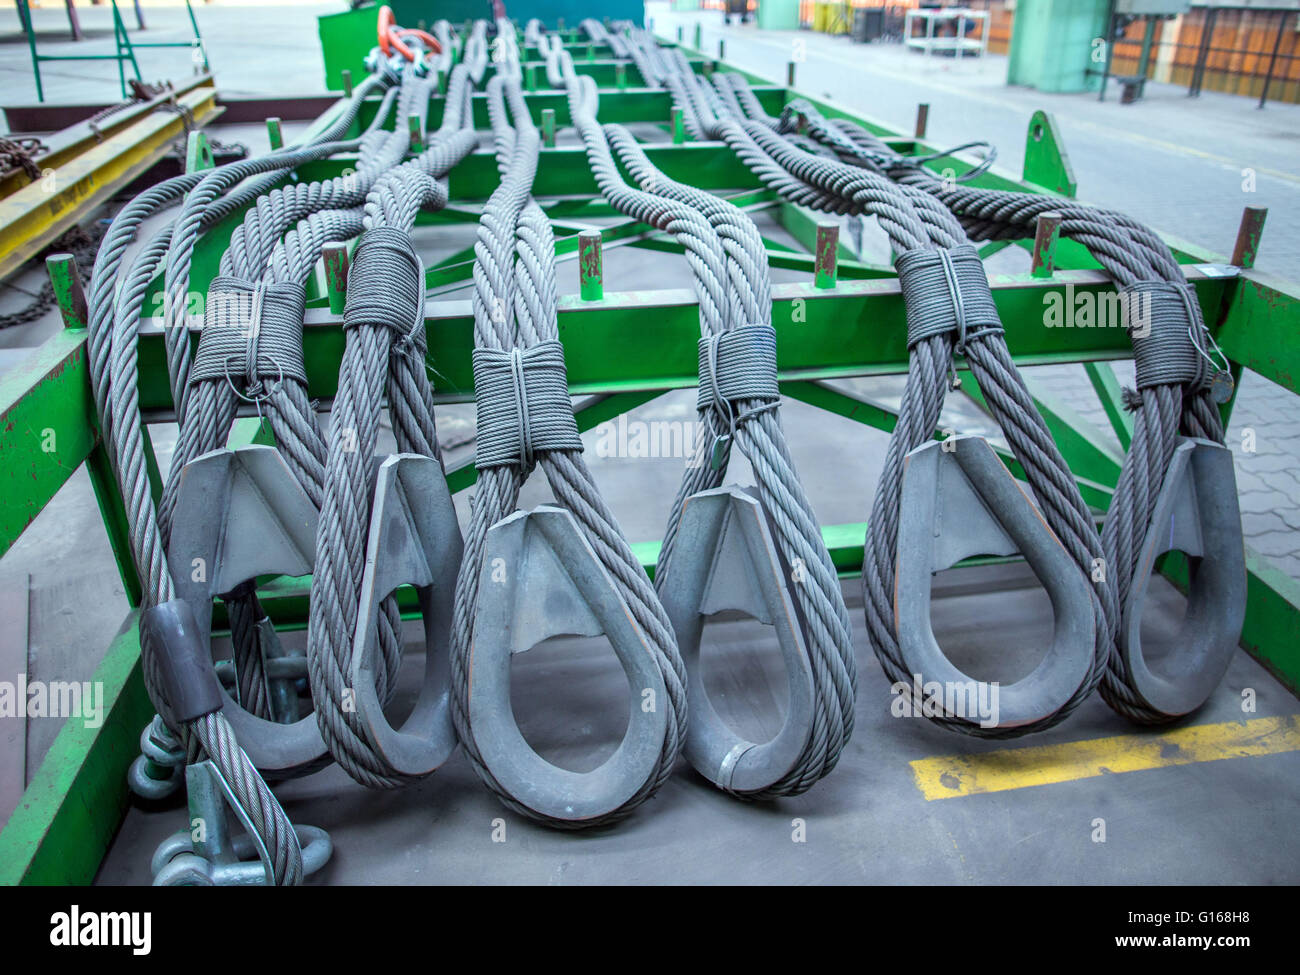
<svg viewBox="0 0 1300 975">
<path fill-rule="evenodd" d="M 913 762 L 911 774 L 927 800 L 946 800 L 1282 751 L 1300 751 L 1300 715 L 1013 748 L 982 755 L 936 755 Z"/>
</svg>

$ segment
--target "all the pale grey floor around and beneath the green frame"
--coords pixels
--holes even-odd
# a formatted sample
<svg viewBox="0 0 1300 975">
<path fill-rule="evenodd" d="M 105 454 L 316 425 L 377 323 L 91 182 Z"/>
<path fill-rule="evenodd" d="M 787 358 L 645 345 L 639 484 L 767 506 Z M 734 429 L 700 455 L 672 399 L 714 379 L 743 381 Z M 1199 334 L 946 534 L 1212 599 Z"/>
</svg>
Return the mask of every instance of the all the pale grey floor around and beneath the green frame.
<svg viewBox="0 0 1300 975">
<path fill-rule="evenodd" d="M 224 92 L 311 94 L 321 90 L 321 61 L 315 14 L 338 4 L 231 6 L 198 9 L 209 57 Z M 178 32 L 183 10 L 146 8 L 150 39 L 164 30 Z M 649 13 L 660 34 L 675 32 L 673 16 L 663 4 Z M 0 14 L 3 16 L 3 14 Z M 82 22 L 96 30 L 103 8 L 87 8 Z M 55 35 L 64 29 L 61 9 L 36 12 L 38 27 Z M 681 17 L 690 36 L 694 16 Z M 723 35 L 720 16 L 702 14 L 706 48 Z M 103 25 L 100 25 L 101 27 Z M 103 34 L 100 32 L 104 43 Z M 178 32 L 179 36 L 179 32 Z M 274 36 L 274 40 L 269 38 Z M 759 34 L 751 27 L 725 31 L 728 58 L 770 77 L 784 73 L 789 35 Z M 844 39 L 801 35 L 807 60 L 800 65 L 801 88 L 842 100 L 898 129 L 909 130 L 918 101 L 931 103 L 931 136 L 940 144 L 971 138 L 993 140 L 1000 165 L 1019 172 L 1024 127 L 1034 108 L 1057 114 L 1084 199 L 1131 212 L 1153 225 L 1209 246 L 1231 248 L 1243 205 L 1270 207 L 1260 266 L 1300 277 L 1300 108 L 1270 105 L 1254 112 L 1253 103 L 1206 92 L 1187 100 L 1174 90 L 1150 86 L 1144 104 L 1119 107 L 1114 99 L 1097 104 L 1088 96 L 1048 96 L 1006 88 L 1005 61 L 919 62 L 920 58 L 883 47 L 852 46 Z M 42 49 L 46 40 L 42 38 Z M 272 51 L 274 52 L 272 56 Z M 177 52 L 148 52 L 146 78 L 181 77 Z M 179 52 L 186 57 L 185 52 Z M 5 100 L 34 100 L 26 47 L 0 39 L 0 79 Z M 172 58 L 172 60 L 169 60 Z M 116 86 L 112 66 L 57 65 L 47 72 L 51 98 L 86 101 Z M 25 87 L 26 86 L 26 87 Z M 244 139 L 264 150 L 264 133 L 217 130 L 222 139 Z M 560 133 L 560 140 L 571 138 Z M 1257 191 L 1242 192 L 1242 169 L 1257 173 Z M 764 234 L 783 233 L 763 218 Z M 467 242 L 464 228 L 430 229 L 421 239 L 426 259 L 454 252 Z M 1005 252 L 1000 261 L 1022 255 Z M 1004 265 L 1009 266 L 1009 265 Z M 627 247 L 606 255 L 611 289 L 685 286 L 680 261 Z M 775 281 L 793 280 L 774 272 Z M 32 278 L 20 278 L 30 289 Z M 559 265 L 562 292 L 577 290 L 573 261 Z M 456 298 L 456 294 L 448 294 Z M 0 294 L 0 308 L 20 295 Z M 22 329 L 0 333 L 0 369 L 10 365 L 57 328 L 47 317 Z M 1121 368 L 1121 374 L 1124 374 Z M 1076 410 L 1105 430 L 1087 380 L 1078 368 L 1030 370 L 1032 381 L 1049 384 Z M 900 377 L 857 381 L 854 387 L 883 402 L 896 399 Z M 663 396 L 636 411 L 633 419 L 684 420 L 693 415 L 693 394 Z M 962 396 L 950 398 L 956 429 L 997 430 Z M 1249 376 L 1236 412 L 1236 424 L 1256 432 L 1258 451 L 1244 454 L 1230 439 L 1238 458 L 1243 517 L 1249 543 L 1279 558 L 1300 577 L 1300 437 L 1294 433 L 1294 399 L 1258 377 Z M 840 417 L 829 417 L 798 403 L 783 406 L 783 420 L 801 477 L 823 523 L 859 521 L 870 510 L 885 438 Z M 439 429 L 447 442 L 472 436 L 472 408 L 439 410 Z M 160 460 L 166 468 L 174 432 L 155 430 Z M 586 436 L 588 460 L 597 482 L 623 521 L 629 538 L 656 538 L 680 477 L 680 460 L 641 462 L 601 458 L 594 433 Z M 451 451 L 451 462 L 468 452 L 465 443 Z M 833 458 L 833 463 L 827 459 Z M 742 463 L 732 480 L 748 482 Z M 537 478 L 521 504 L 549 499 Z M 462 517 L 468 498 L 462 498 Z M 968 581 L 968 580 L 967 580 Z M 980 585 L 1006 585 L 1005 593 L 975 598 L 956 582 L 936 602 L 936 632 L 971 658 L 996 660 L 988 667 L 1013 670 L 1027 662 L 1008 646 L 1035 645 L 1046 627 L 1043 597 L 1024 588 L 1026 580 L 1005 573 L 976 577 Z M 27 586 L 30 593 L 32 676 L 57 673 L 87 679 L 116 630 L 125 608 L 116 569 L 103 537 L 99 514 L 84 472 L 78 472 L 17 546 L 0 560 L 0 586 Z M 963 584 L 965 585 L 965 584 Z M 1160 589 L 1161 619 L 1179 612 L 1179 597 Z M 685 766 L 664 790 L 629 822 L 595 835 L 558 835 L 504 812 L 458 755 L 437 775 L 395 794 L 376 794 L 351 783 L 337 768 L 289 784 L 283 796 L 295 820 L 324 826 L 337 844 L 334 861 L 320 880 L 329 883 L 385 881 L 736 881 L 833 883 L 1295 883 L 1300 879 L 1297 841 L 1291 828 L 1297 812 L 1296 753 L 1156 768 L 1102 779 L 1017 789 L 996 794 L 926 801 L 909 762 L 931 755 L 975 754 L 1017 745 L 992 745 L 948 734 L 923 720 L 890 720 L 889 694 L 862 632 L 858 584 L 846 584 L 859 651 L 858 731 L 840 767 L 809 796 L 771 805 L 736 803 Z M 783 690 L 771 667 L 754 667 L 741 650 L 750 646 L 740 624 L 710 628 L 716 638 L 719 671 L 741 675 L 744 686 L 731 705 L 737 716 L 758 702 L 757 736 L 768 731 L 780 712 Z M 417 663 L 417 659 L 412 663 Z M 771 664 L 771 662 L 767 662 Z M 608 653 L 585 645 L 542 647 L 516 660 L 526 699 L 516 714 L 530 741 L 555 760 L 590 767 L 621 734 L 625 684 Z M 575 676 L 576 675 L 576 676 Z M 982 675 L 983 676 L 983 675 Z M 996 676 L 996 675 L 989 675 Z M 1254 718 L 1244 715 L 1240 694 L 1252 688 L 1258 715 L 1291 715 L 1295 698 L 1245 654 L 1239 654 L 1210 705 L 1196 724 Z M 606 702 L 593 706 L 593 701 Z M 573 716 L 584 736 L 571 738 Z M 46 719 L 29 727 L 27 767 L 34 770 L 57 732 Z M 1032 738 L 1031 745 L 1127 734 L 1131 725 L 1113 715 L 1100 699 L 1087 702 L 1063 727 Z M 491 822 L 508 820 L 504 845 L 491 844 Z M 1108 823 L 1108 841 L 1092 841 L 1092 820 Z M 3 818 L 3 812 L 0 812 Z M 807 823 L 807 842 L 790 842 L 790 820 Z M 104 864 L 101 883 L 144 883 L 148 854 L 166 833 L 179 827 L 179 810 L 133 810 Z M 1160 824 L 1152 829 L 1150 824 Z M 580 846 L 581 844 L 581 846 Z M 1195 855 L 1188 855 L 1188 850 Z"/>
</svg>

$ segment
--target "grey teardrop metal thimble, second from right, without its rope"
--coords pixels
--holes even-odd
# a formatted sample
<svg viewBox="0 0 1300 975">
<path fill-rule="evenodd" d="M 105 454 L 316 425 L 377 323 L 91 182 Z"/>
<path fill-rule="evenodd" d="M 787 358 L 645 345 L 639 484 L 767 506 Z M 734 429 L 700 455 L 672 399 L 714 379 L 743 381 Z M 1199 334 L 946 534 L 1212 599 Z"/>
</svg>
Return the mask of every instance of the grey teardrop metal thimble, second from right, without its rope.
<svg viewBox="0 0 1300 975">
<path fill-rule="evenodd" d="M 997 720 L 980 723 L 1017 728 L 1052 716 L 1092 668 L 1091 581 L 983 437 L 932 441 L 910 451 L 904 464 L 894 632 L 905 666 L 927 682 L 976 688 L 976 699 L 993 699 L 992 686 L 963 673 L 935 640 L 932 576 L 974 555 L 1019 552 L 1052 601 L 1052 645 L 1028 675 L 997 685 Z"/>
</svg>

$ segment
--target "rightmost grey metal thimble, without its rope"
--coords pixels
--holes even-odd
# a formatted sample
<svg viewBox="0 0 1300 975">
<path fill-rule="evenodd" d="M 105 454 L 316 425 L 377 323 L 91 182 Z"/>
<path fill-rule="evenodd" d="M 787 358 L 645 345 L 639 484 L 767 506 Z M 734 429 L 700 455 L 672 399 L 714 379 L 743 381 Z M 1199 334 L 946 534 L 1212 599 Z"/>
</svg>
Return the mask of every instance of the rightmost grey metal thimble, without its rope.
<svg viewBox="0 0 1300 975">
<path fill-rule="evenodd" d="M 1141 647 L 1141 615 L 1156 559 L 1188 556 L 1187 612 L 1174 634 L 1171 667 L 1154 673 Z M 1232 452 L 1221 443 L 1180 437 L 1143 540 L 1134 585 L 1123 606 L 1121 656 L 1134 689 L 1157 711 L 1184 715 L 1214 692 L 1245 620 L 1245 543 Z"/>
</svg>

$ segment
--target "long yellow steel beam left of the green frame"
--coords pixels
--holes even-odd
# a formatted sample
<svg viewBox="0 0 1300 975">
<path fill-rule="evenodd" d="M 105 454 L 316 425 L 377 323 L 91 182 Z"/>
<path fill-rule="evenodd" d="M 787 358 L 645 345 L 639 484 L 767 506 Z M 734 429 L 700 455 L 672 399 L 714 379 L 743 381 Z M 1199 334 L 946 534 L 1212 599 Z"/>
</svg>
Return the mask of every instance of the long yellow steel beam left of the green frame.
<svg viewBox="0 0 1300 975">
<path fill-rule="evenodd" d="M 217 91 L 196 88 L 177 99 L 204 125 L 222 109 Z M 185 133 L 176 112 L 157 110 L 0 200 L 0 280 L 18 270 L 60 234 L 140 176 Z"/>
</svg>

